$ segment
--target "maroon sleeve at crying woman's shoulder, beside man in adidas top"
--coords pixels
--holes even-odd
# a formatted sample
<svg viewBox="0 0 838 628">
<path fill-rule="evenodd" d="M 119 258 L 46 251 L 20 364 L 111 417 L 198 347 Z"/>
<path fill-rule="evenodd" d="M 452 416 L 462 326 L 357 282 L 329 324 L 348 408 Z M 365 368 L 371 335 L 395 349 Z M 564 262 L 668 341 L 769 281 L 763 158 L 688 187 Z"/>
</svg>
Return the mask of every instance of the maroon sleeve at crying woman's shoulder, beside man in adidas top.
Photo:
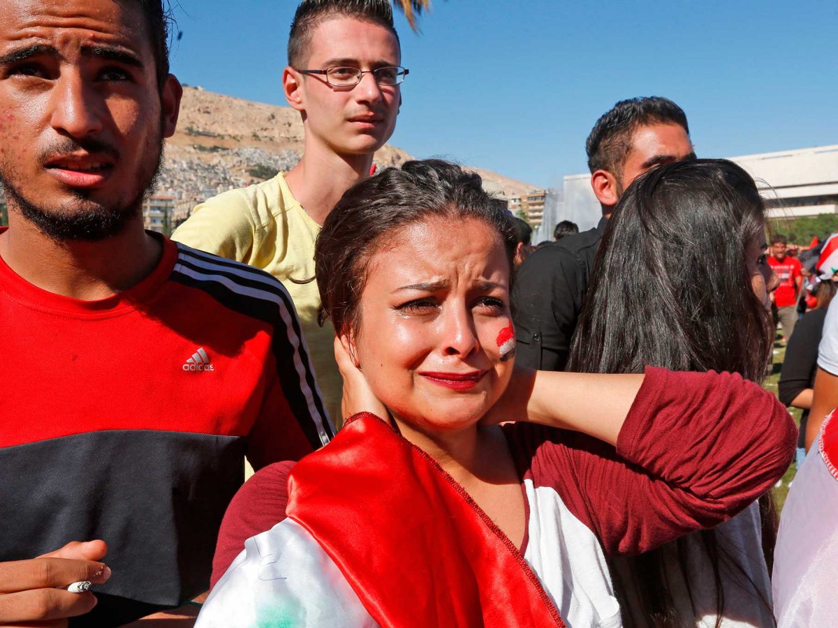
<svg viewBox="0 0 838 628">
<path fill-rule="evenodd" d="M 270 530 L 285 518 L 288 503 L 288 475 L 296 463 L 275 462 L 256 471 L 235 493 L 227 507 L 218 544 L 212 561 L 209 587 L 215 586 L 235 557 L 245 548 L 245 541 Z"/>
</svg>

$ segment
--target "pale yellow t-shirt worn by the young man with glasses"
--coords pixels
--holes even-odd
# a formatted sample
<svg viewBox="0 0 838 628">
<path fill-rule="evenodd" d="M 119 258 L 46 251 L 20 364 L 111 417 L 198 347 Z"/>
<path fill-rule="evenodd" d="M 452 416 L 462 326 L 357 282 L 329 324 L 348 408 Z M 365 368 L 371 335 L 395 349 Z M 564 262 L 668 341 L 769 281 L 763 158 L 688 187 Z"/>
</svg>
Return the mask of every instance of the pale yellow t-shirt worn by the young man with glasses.
<svg viewBox="0 0 838 628">
<path fill-rule="evenodd" d="M 323 327 L 318 325 L 317 281 L 291 281 L 314 276 L 314 240 L 318 233 L 320 225 L 297 203 L 280 172 L 264 183 L 230 190 L 200 203 L 172 239 L 256 266 L 282 281 L 297 308 L 326 410 L 339 427 L 344 383 L 334 361 L 334 328 L 328 322 Z"/>
</svg>

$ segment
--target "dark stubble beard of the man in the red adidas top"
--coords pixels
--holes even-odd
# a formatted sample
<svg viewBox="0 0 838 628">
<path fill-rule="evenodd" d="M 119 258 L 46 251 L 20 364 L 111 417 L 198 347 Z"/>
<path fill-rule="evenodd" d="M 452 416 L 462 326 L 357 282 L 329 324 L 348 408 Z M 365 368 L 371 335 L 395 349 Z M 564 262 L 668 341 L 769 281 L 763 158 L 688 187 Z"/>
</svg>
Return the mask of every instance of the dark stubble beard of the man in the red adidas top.
<svg viewBox="0 0 838 628">
<path fill-rule="evenodd" d="M 55 241 L 73 240 L 98 242 L 122 233 L 126 225 L 142 213 L 142 203 L 153 193 L 163 166 L 163 133 L 158 136 L 157 161 L 149 173 L 140 172 L 146 179 L 137 193 L 125 203 L 111 207 L 94 205 L 81 209 L 44 208 L 29 201 L 25 194 L 12 183 L 4 172 L 0 172 L 0 186 L 6 193 L 8 206 L 17 208 L 24 219 L 34 224 L 39 231 Z M 10 168 L 14 172 L 14 168 Z M 87 193 L 76 191 L 75 198 L 86 200 Z"/>
</svg>

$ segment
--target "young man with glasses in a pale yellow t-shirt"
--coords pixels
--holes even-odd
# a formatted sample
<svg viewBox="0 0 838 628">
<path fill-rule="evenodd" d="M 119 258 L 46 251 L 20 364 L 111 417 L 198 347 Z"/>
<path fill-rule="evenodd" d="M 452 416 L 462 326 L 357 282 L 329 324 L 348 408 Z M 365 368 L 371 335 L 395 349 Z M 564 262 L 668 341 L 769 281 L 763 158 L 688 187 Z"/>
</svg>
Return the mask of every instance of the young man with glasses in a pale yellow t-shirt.
<svg viewBox="0 0 838 628">
<path fill-rule="evenodd" d="M 334 332 L 320 327 L 314 240 L 334 203 L 370 175 L 401 105 L 401 49 L 388 0 L 303 0 L 282 85 L 303 117 L 303 158 L 290 172 L 210 198 L 173 239 L 267 270 L 291 293 L 328 413 L 340 423 L 343 383 Z"/>
</svg>

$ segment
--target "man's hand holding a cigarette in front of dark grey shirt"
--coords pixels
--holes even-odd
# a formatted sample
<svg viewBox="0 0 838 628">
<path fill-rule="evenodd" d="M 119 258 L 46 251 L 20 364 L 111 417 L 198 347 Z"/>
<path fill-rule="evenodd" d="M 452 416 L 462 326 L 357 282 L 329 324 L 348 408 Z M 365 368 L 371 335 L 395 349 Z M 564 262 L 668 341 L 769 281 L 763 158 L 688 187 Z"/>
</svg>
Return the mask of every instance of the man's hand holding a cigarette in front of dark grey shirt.
<svg viewBox="0 0 838 628">
<path fill-rule="evenodd" d="M 96 606 L 91 584 L 111 577 L 99 562 L 106 552 L 104 541 L 74 541 L 37 559 L 0 563 L 0 625 L 64 626 L 67 617 L 89 612 Z"/>
</svg>

